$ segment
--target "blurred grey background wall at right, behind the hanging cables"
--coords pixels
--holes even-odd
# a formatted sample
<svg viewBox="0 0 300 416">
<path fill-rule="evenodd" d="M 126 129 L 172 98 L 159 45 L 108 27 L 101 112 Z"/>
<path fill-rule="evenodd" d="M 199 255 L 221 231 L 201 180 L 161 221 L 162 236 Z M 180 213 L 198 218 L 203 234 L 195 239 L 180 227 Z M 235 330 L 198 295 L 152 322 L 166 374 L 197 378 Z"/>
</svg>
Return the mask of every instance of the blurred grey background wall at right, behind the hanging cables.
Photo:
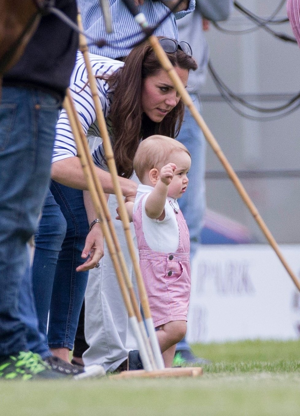
<svg viewBox="0 0 300 416">
<path fill-rule="evenodd" d="M 283 4 L 276 19 L 286 18 L 285 2 L 280 0 L 240 0 L 240 4 L 263 18 L 270 17 Z M 269 108 L 286 104 L 300 92 L 297 44 L 257 29 L 236 7 L 231 18 L 219 26 L 231 33 L 210 26 L 206 32 L 210 60 L 215 72 L 235 94 L 251 104 Z M 293 37 L 289 22 L 269 27 Z M 277 242 L 299 243 L 300 108 L 280 117 L 278 114 L 288 109 L 281 113 L 260 113 L 232 103 L 255 120 L 235 112 L 208 74 L 202 90 L 206 124 Z M 299 99 L 296 103 L 299 104 Z M 261 120 L 265 116 L 275 118 Z M 208 208 L 245 225 L 258 242 L 265 243 L 258 225 L 209 146 L 206 160 Z"/>
</svg>

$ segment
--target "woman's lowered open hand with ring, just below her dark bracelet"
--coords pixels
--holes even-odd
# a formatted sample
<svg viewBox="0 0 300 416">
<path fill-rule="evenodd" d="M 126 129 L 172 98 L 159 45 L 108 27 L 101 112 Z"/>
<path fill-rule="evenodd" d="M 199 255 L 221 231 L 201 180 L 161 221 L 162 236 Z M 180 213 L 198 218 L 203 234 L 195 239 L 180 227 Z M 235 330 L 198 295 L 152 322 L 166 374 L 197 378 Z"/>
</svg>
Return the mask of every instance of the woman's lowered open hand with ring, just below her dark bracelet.
<svg viewBox="0 0 300 416">
<path fill-rule="evenodd" d="M 82 250 L 81 257 L 87 259 L 82 265 L 78 266 L 77 272 L 84 272 L 86 270 L 96 267 L 100 259 L 104 255 L 104 240 L 101 227 L 99 223 L 94 224 L 92 230 L 88 233 L 85 239 L 85 246 Z"/>
</svg>

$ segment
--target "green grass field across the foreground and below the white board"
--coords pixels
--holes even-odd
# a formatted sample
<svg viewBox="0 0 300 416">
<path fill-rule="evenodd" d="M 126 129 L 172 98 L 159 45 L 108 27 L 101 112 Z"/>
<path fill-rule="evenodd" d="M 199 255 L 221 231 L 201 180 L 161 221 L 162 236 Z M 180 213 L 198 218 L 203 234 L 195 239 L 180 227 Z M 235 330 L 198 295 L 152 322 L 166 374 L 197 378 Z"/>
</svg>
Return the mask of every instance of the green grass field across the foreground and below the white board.
<svg viewBox="0 0 300 416">
<path fill-rule="evenodd" d="M 0 382 L 0 415 L 290 416 L 300 414 L 300 341 L 194 345 L 203 376 Z"/>
</svg>

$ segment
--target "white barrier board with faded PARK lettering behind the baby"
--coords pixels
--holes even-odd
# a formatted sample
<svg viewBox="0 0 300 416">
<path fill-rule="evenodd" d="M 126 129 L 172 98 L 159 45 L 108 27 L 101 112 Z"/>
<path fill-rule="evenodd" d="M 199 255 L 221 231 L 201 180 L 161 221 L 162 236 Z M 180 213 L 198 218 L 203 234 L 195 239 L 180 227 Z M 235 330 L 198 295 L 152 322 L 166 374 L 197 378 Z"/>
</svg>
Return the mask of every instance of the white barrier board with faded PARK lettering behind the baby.
<svg viewBox="0 0 300 416">
<path fill-rule="evenodd" d="M 281 245 L 300 275 L 300 245 Z M 188 342 L 298 339 L 300 293 L 268 245 L 201 245 L 192 262 Z"/>
</svg>

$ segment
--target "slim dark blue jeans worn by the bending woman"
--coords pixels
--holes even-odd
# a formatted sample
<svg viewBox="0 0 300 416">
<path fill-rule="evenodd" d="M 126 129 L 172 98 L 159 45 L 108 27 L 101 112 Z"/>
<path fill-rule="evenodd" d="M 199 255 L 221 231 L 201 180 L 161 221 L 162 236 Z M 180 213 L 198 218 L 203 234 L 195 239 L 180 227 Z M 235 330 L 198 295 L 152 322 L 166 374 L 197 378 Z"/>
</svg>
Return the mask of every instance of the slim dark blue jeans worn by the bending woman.
<svg viewBox="0 0 300 416">
<path fill-rule="evenodd" d="M 50 348 L 74 345 L 88 272 L 76 272 L 89 232 L 82 191 L 51 181 L 35 235 L 33 288 L 40 331 Z"/>
</svg>

